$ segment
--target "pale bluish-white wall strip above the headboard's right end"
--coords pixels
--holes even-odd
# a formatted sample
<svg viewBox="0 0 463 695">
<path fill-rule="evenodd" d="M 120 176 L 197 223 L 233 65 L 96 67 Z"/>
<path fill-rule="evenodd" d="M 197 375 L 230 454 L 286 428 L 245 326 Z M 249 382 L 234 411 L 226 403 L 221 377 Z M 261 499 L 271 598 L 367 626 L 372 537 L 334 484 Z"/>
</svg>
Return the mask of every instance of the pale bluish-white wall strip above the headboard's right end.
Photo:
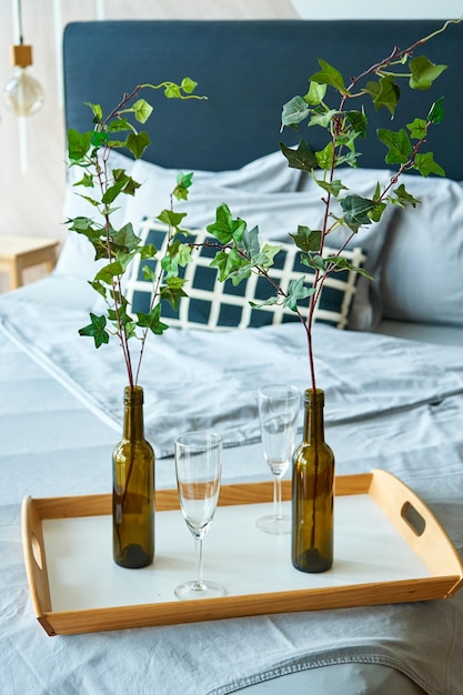
<svg viewBox="0 0 463 695">
<path fill-rule="evenodd" d="M 463 16 L 463 0 L 291 0 L 302 19 L 457 19 Z"/>
</svg>

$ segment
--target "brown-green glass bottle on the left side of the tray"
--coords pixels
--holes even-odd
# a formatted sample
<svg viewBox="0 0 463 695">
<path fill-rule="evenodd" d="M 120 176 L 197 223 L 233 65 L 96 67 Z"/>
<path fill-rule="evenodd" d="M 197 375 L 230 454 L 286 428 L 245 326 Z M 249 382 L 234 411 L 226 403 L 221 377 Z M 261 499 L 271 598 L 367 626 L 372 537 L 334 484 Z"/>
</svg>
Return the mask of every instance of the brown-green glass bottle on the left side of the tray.
<svg viewBox="0 0 463 695">
<path fill-rule="evenodd" d="M 154 452 L 144 439 L 143 389 L 125 386 L 122 440 L 112 454 L 113 558 L 121 567 L 154 556 Z"/>
</svg>

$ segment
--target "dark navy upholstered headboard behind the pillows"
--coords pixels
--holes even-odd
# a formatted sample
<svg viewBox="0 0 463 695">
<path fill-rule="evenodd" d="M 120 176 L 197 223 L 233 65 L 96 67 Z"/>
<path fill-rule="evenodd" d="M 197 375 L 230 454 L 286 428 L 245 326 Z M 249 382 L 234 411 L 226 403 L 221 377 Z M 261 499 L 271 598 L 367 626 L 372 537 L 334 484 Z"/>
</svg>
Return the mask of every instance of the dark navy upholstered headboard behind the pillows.
<svg viewBox="0 0 463 695">
<path fill-rule="evenodd" d="M 301 133 L 280 133 L 281 108 L 306 91 L 309 77 L 323 58 L 348 79 L 387 56 L 394 46 L 406 48 L 443 24 L 444 20 L 363 21 L 94 21 L 67 27 L 63 44 L 66 125 L 89 129 L 84 102 L 103 108 L 118 103 L 138 83 L 180 81 L 191 77 L 208 101 L 147 98 L 152 147 L 147 158 L 179 169 L 233 169 L 295 143 Z M 399 128 L 425 117 L 433 100 L 444 95 L 445 120 L 433 129 L 430 148 L 446 175 L 463 180 L 459 154 L 463 125 L 463 24 L 452 24 L 415 54 L 450 67 L 431 91 L 403 90 L 402 107 L 391 125 L 389 112 L 370 113 L 375 125 Z M 318 132 L 319 131 L 319 132 Z M 321 129 L 302 134 L 318 147 Z M 324 144 L 324 143 L 323 143 Z M 456 147 L 455 147 L 456 145 Z M 322 147 L 320 142 L 320 147 Z M 375 139 L 362 145 L 362 167 L 385 167 L 385 149 Z"/>
</svg>

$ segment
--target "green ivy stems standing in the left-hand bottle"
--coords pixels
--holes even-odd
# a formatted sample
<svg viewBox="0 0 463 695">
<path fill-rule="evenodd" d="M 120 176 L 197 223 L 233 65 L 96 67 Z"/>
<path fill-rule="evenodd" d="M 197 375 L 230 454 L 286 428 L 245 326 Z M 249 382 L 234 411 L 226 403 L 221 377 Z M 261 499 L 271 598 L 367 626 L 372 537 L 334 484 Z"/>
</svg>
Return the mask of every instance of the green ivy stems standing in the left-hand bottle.
<svg viewBox="0 0 463 695">
<path fill-rule="evenodd" d="M 117 336 L 122 348 L 127 375 L 131 389 L 138 383 L 147 338 L 150 333 L 161 335 L 168 325 L 161 320 L 161 299 L 165 299 L 173 309 L 185 295 L 184 280 L 179 276 L 179 265 L 189 261 L 188 254 L 179 258 L 179 242 L 175 236 L 182 232 L 180 224 L 187 213 L 173 210 L 173 201 L 185 200 L 192 183 L 192 173 L 180 172 L 177 184 L 170 195 L 170 208 L 164 209 L 158 219 L 168 225 L 168 248 L 162 258 L 153 244 L 144 244 L 138 236 L 131 222 L 121 229 L 112 225 L 112 214 L 118 209 L 121 195 L 134 195 L 140 183 L 134 181 L 124 169 L 111 169 L 110 154 L 117 149 L 125 149 L 134 159 L 140 159 L 150 145 L 145 131 L 138 130 L 138 123 L 145 123 L 153 108 L 139 92 L 142 89 L 163 90 L 168 99 L 205 99 L 194 94 L 197 83 L 184 78 L 180 84 L 161 82 L 160 84 L 139 84 L 130 93 L 124 93 L 121 101 L 108 115 L 103 115 L 100 104 L 88 103 L 93 113 L 93 129 L 79 132 L 68 131 L 68 155 L 70 167 L 80 167 L 83 177 L 74 185 L 90 190 L 90 194 L 80 195 L 95 210 L 93 218 L 78 216 L 68 219 L 70 230 L 83 234 L 94 249 L 95 261 L 104 259 L 107 263 L 98 270 L 90 285 L 105 302 L 105 312 L 90 313 L 90 323 L 80 329 L 79 334 L 90 336 L 95 348 L 109 343 Z M 158 272 L 143 266 L 147 280 L 152 281 L 153 291 L 149 311 L 137 312 L 133 316 L 124 295 L 123 276 L 130 263 L 139 255 L 141 261 L 158 261 Z M 138 339 L 138 360 L 132 360 L 131 341 Z"/>
</svg>

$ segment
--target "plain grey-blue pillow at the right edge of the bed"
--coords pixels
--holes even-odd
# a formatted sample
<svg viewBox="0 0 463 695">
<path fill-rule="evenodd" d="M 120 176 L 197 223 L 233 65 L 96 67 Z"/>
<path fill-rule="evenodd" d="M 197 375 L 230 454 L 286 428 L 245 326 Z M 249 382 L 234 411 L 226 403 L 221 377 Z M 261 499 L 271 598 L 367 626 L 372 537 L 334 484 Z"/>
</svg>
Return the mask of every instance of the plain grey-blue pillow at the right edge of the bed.
<svg viewBox="0 0 463 695">
<path fill-rule="evenodd" d="M 401 181 L 422 202 L 394 218 L 383 258 L 384 318 L 463 325 L 463 182 Z"/>
</svg>

